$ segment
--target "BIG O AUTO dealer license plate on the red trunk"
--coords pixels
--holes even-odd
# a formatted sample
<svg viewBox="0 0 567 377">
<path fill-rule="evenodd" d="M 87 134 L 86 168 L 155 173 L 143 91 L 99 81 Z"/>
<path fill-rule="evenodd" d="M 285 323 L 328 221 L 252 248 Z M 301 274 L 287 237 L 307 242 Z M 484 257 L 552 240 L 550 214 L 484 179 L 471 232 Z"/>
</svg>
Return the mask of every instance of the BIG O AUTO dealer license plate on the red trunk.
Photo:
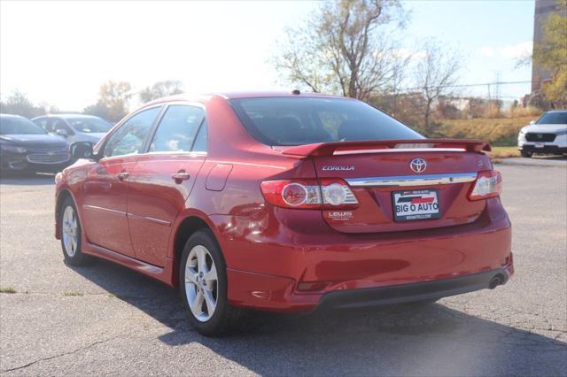
<svg viewBox="0 0 567 377">
<path fill-rule="evenodd" d="M 416 219 L 437 219 L 439 213 L 439 190 L 394 191 L 393 219 L 407 221 Z"/>
</svg>

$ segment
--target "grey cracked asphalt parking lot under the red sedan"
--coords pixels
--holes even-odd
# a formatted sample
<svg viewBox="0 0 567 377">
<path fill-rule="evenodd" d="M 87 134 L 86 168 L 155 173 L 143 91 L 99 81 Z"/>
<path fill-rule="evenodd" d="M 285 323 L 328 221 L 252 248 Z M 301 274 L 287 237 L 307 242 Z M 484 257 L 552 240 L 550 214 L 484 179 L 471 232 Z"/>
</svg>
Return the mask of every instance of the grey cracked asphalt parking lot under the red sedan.
<svg viewBox="0 0 567 377">
<path fill-rule="evenodd" d="M 566 375 L 567 167 L 498 165 L 514 227 L 504 287 L 304 316 L 254 313 L 207 339 L 176 293 L 104 261 L 63 263 L 53 177 L 0 183 L 0 373 Z"/>
</svg>

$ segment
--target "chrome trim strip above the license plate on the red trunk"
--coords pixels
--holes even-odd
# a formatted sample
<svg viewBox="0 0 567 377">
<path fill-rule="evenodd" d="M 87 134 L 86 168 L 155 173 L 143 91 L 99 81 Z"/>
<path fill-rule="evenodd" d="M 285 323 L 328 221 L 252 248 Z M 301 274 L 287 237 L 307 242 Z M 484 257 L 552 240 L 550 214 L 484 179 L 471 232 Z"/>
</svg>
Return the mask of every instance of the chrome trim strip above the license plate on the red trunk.
<svg viewBox="0 0 567 377">
<path fill-rule="evenodd" d="M 450 173 L 427 175 L 393 175 L 391 177 L 348 178 L 353 187 L 403 187 L 424 185 L 446 185 L 451 183 L 471 182 L 477 179 L 477 173 Z"/>
</svg>

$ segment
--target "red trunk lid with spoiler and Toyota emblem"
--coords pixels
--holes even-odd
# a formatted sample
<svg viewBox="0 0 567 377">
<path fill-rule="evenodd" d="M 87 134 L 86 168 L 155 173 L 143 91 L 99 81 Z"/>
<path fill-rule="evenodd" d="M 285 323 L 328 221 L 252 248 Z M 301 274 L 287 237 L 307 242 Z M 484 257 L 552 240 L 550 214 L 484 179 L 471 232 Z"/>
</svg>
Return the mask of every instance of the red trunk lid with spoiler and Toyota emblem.
<svg viewBox="0 0 567 377">
<path fill-rule="evenodd" d="M 282 153 L 311 159 L 317 178 L 341 178 L 351 187 L 358 207 L 323 210 L 330 227 L 344 233 L 382 233 L 450 227 L 477 219 L 485 201 L 473 202 L 467 196 L 477 173 L 492 169 L 482 150 L 490 150 L 490 145 L 478 140 L 421 139 L 309 144 Z M 424 165 L 416 166 L 416 161 Z M 406 213 L 394 210 L 402 204 L 408 208 L 438 204 L 439 210 L 421 219 L 421 215 L 398 216 Z"/>
</svg>

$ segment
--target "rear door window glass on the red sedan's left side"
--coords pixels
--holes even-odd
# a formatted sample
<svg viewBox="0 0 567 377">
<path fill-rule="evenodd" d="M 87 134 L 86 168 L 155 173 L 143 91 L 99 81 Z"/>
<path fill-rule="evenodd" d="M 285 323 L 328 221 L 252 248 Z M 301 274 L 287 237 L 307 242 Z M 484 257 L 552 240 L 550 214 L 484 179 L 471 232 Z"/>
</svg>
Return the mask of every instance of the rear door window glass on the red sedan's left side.
<svg viewBox="0 0 567 377">
<path fill-rule="evenodd" d="M 174 104 L 167 111 L 151 140 L 151 152 L 189 152 L 205 111 L 200 107 Z"/>
</svg>

